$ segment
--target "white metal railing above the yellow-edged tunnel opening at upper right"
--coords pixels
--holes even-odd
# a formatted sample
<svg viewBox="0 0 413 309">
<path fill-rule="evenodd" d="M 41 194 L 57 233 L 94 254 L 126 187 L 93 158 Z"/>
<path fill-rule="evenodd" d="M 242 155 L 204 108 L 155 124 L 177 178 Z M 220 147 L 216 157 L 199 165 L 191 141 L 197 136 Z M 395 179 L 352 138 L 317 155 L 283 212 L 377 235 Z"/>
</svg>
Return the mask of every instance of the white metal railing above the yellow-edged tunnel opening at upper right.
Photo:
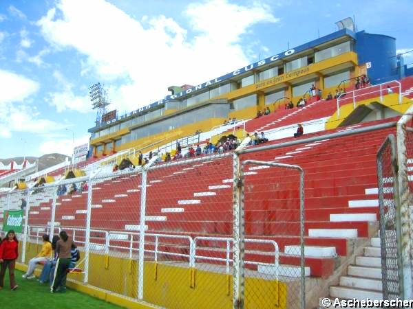
<svg viewBox="0 0 413 309">
<path fill-rule="evenodd" d="M 390 84 L 394 84 L 396 83 L 397 86 L 390 86 Z M 384 86 L 388 86 L 388 87 L 384 87 Z M 371 91 L 365 92 L 366 89 L 371 89 Z M 376 89 L 376 90 L 373 90 Z M 370 95 L 373 93 L 379 93 L 380 95 L 380 102 L 383 102 L 383 95 L 387 95 L 390 94 L 388 89 L 398 89 L 399 92 L 399 104 L 401 104 L 401 83 L 398 80 L 391 80 L 390 82 L 383 82 L 381 84 L 374 84 L 372 86 L 369 87 L 364 87 L 361 89 L 355 89 L 353 91 L 349 91 L 346 93 L 341 93 L 339 95 L 339 98 L 337 98 L 337 117 L 339 117 L 340 115 L 340 102 L 342 103 L 345 100 L 350 100 L 352 99 L 352 103 L 353 103 L 353 109 L 356 108 L 357 106 L 357 98 L 360 97 L 364 97 L 366 95 Z M 393 91 L 394 93 L 394 91 Z M 349 95 L 349 96 L 348 96 Z"/>
</svg>

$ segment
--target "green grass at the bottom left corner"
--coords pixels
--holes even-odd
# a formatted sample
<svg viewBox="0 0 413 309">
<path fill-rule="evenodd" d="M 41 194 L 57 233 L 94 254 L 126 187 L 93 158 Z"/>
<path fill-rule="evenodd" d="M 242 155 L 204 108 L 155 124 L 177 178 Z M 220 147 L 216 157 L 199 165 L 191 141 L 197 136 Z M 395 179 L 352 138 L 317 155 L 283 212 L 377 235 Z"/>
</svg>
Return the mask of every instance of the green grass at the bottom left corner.
<svg viewBox="0 0 413 309">
<path fill-rule="evenodd" d="M 12 291 L 6 273 L 4 288 L 0 290 L 1 309 L 120 308 L 75 290 L 52 294 L 48 284 L 40 284 L 36 279 L 23 279 L 21 271 L 15 271 L 15 275 L 19 288 Z"/>
</svg>

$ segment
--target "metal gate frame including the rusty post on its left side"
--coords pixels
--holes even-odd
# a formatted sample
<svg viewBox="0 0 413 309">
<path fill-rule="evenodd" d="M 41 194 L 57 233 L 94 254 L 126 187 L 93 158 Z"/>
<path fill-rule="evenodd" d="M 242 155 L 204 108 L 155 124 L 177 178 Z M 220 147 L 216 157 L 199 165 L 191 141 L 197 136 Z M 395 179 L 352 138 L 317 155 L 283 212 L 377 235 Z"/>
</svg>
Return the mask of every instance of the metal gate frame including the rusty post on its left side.
<svg viewBox="0 0 413 309">
<path fill-rule="evenodd" d="M 299 172 L 299 209 L 300 209 L 300 296 L 301 309 L 306 308 L 306 277 L 304 260 L 304 170 L 298 165 L 257 160 L 245 160 L 240 164 L 240 157 L 234 154 L 233 186 L 233 308 L 244 308 L 245 297 L 245 208 L 244 208 L 244 168 L 246 164 L 266 165 L 287 168 Z"/>
</svg>

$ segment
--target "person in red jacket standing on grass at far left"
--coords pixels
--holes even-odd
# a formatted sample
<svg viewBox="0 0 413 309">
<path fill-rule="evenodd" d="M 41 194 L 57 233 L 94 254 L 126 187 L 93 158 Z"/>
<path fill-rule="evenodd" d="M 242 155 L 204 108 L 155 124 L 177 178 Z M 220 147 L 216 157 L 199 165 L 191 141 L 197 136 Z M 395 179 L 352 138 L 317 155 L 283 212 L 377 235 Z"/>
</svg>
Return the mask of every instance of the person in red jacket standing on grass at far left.
<svg viewBox="0 0 413 309">
<path fill-rule="evenodd" d="M 16 233 L 10 229 L 0 244 L 0 289 L 4 286 L 7 268 L 9 268 L 10 288 L 16 290 L 19 287 L 14 279 L 17 257 L 19 257 L 19 240 L 17 240 Z"/>
</svg>

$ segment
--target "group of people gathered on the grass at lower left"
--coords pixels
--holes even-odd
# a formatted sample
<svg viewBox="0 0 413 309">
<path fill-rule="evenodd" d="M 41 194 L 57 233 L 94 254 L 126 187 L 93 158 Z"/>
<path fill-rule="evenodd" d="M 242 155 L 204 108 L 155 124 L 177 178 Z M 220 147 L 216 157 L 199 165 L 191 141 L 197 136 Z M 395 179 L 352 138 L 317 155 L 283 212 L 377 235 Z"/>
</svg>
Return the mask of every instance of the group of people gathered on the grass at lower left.
<svg viewBox="0 0 413 309">
<path fill-rule="evenodd" d="M 0 289 L 4 286 L 7 270 L 10 288 L 16 290 L 19 287 L 14 275 L 18 257 L 19 240 L 17 240 L 16 233 L 10 230 L 0 243 Z M 76 266 L 76 262 L 80 258 L 81 255 L 76 244 L 69 238 L 66 231 L 61 231 L 59 236 L 54 236 L 52 242 L 50 242 L 48 235 L 43 235 L 41 251 L 29 261 L 28 271 L 22 277 L 23 279 L 34 279 L 34 269 L 37 264 L 43 264 L 38 281 L 41 284 L 49 282 L 51 293 L 65 293 L 67 272 Z"/>
</svg>

